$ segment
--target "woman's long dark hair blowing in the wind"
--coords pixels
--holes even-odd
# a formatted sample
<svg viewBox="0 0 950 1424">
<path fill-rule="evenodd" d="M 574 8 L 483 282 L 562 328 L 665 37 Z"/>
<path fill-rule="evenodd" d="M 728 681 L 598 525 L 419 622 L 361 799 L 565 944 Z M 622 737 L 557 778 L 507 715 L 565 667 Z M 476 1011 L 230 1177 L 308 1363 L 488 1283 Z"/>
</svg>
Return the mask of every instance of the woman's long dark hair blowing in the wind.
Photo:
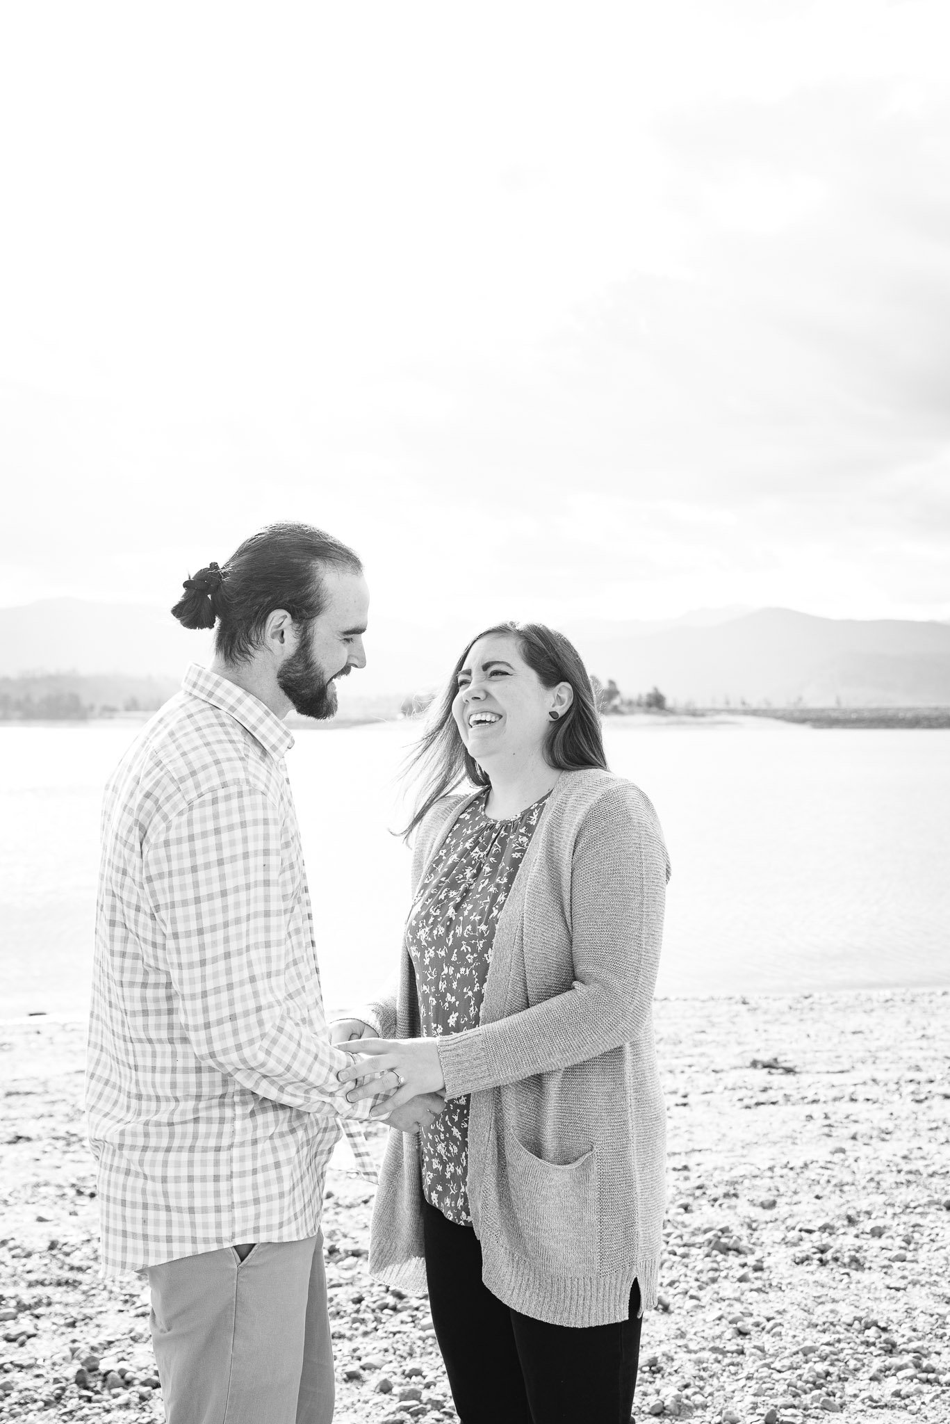
<svg viewBox="0 0 950 1424">
<path fill-rule="evenodd" d="M 451 703 L 459 692 L 459 674 L 466 658 L 480 638 L 494 634 L 516 639 L 521 656 L 538 675 L 543 686 L 555 688 L 558 682 L 570 682 L 574 689 L 574 701 L 557 722 L 551 722 L 544 739 L 544 759 L 548 766 L 561 772 L 580 772 L 590 766 L 607 770 L 594 689 L 581 655 L 570 638 L 546 624 L 496 624 L 494 628 L 484 628 L 464 648 L 451 669 L 446 691 L 427 713 L 419 742 L 406 758 L 400 779 L 419 780 L 420 786 L 412 820 L 402 832 L 404 839 L 409 839 L 423 816 L 442 796 L 454 790 L 463 778 L 473 786 L 491 785 L 491 779 L 469 755 L 459 735 Z"/>
</svg>

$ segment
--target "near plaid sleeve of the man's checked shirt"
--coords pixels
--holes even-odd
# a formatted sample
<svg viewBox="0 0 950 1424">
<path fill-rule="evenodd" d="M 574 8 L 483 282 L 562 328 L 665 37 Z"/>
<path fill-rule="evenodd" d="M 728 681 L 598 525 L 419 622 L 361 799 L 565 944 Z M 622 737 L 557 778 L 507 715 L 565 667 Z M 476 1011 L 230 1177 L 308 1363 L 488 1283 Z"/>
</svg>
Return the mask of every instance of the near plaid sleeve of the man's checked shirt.
<svg viewBox="0 0 950 1424">
<path fill-rule="evenodd" d="M 350 1055 L 330 1042 L 322 1007 L 305 1012 L 288 993 L 301 950 L 281 844 L 278 807 L 249 786 L 198 797 L 150 840 L 145 893 L 164 931 L 162 967 L 202 1062 L 288 1106 L 365 1119 L 375 1099 L 343 1096 L 336 1074 Z"/>
</svg>

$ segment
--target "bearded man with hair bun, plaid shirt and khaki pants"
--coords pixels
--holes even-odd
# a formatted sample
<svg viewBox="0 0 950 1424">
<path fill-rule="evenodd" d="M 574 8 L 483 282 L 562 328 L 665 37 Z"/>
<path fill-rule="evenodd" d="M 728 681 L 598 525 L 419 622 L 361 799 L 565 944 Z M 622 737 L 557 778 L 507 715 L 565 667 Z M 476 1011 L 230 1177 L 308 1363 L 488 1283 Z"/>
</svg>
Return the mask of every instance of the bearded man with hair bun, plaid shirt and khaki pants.
<svg viewBox="0 0 950 1424">
<path fill-rule="evenodd" d="M 169 1424 L 333 1414 L 323 1179 L 367 1104 L 336 1079 L 282 719 L 333 715 L 367 607 L 356 554 L 305 524 L 209 564 L 172 612 L 216 624 L 214 662 L 105 793 L 90 1139 L 104 1269 L 148 1273 Z"/>
</svg>

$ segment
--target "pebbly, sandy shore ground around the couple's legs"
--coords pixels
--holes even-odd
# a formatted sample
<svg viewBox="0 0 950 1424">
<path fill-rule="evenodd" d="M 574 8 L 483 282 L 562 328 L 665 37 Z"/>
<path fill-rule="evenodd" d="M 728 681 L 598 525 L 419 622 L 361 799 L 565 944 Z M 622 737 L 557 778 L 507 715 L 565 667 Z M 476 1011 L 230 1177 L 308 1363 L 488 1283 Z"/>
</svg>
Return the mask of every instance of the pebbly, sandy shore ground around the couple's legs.
<svg viewBox="0 0 950 1424">
<path fill-rule="evenodd" d="M 658 1002 L 669 1209 L 634 1418 L 950 1421 L 949 1020 L 947 991 Z M 83 1025 L 0 1022 L 0 1418 L 162 1417 L 142 1282 L 97 1273 L 81 1062 Z M 367 1277 L 370 1202 L 339 1155 L 336 1418 L 454 1420 L 426 1302 Z"/>
</svg>

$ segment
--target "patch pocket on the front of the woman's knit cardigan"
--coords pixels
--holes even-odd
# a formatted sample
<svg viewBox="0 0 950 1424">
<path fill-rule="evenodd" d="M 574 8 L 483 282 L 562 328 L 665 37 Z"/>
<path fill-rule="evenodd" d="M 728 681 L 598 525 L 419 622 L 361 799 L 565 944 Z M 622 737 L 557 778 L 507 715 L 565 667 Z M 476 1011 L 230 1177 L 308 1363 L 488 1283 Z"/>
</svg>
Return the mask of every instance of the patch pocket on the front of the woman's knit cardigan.
<svg viewBox="0 0 950 1424">
<path fill-rule="evenodd" d="M 511 1250 L 551 1272 L 597 1274 L 601 1212 L 595 1151 L 565 1165 L 546 1162 L 506 1128 L 504 1165 L 511 1210 L 508 1215 L 503 1208 L 500 1215 Z"/>
</svg>

